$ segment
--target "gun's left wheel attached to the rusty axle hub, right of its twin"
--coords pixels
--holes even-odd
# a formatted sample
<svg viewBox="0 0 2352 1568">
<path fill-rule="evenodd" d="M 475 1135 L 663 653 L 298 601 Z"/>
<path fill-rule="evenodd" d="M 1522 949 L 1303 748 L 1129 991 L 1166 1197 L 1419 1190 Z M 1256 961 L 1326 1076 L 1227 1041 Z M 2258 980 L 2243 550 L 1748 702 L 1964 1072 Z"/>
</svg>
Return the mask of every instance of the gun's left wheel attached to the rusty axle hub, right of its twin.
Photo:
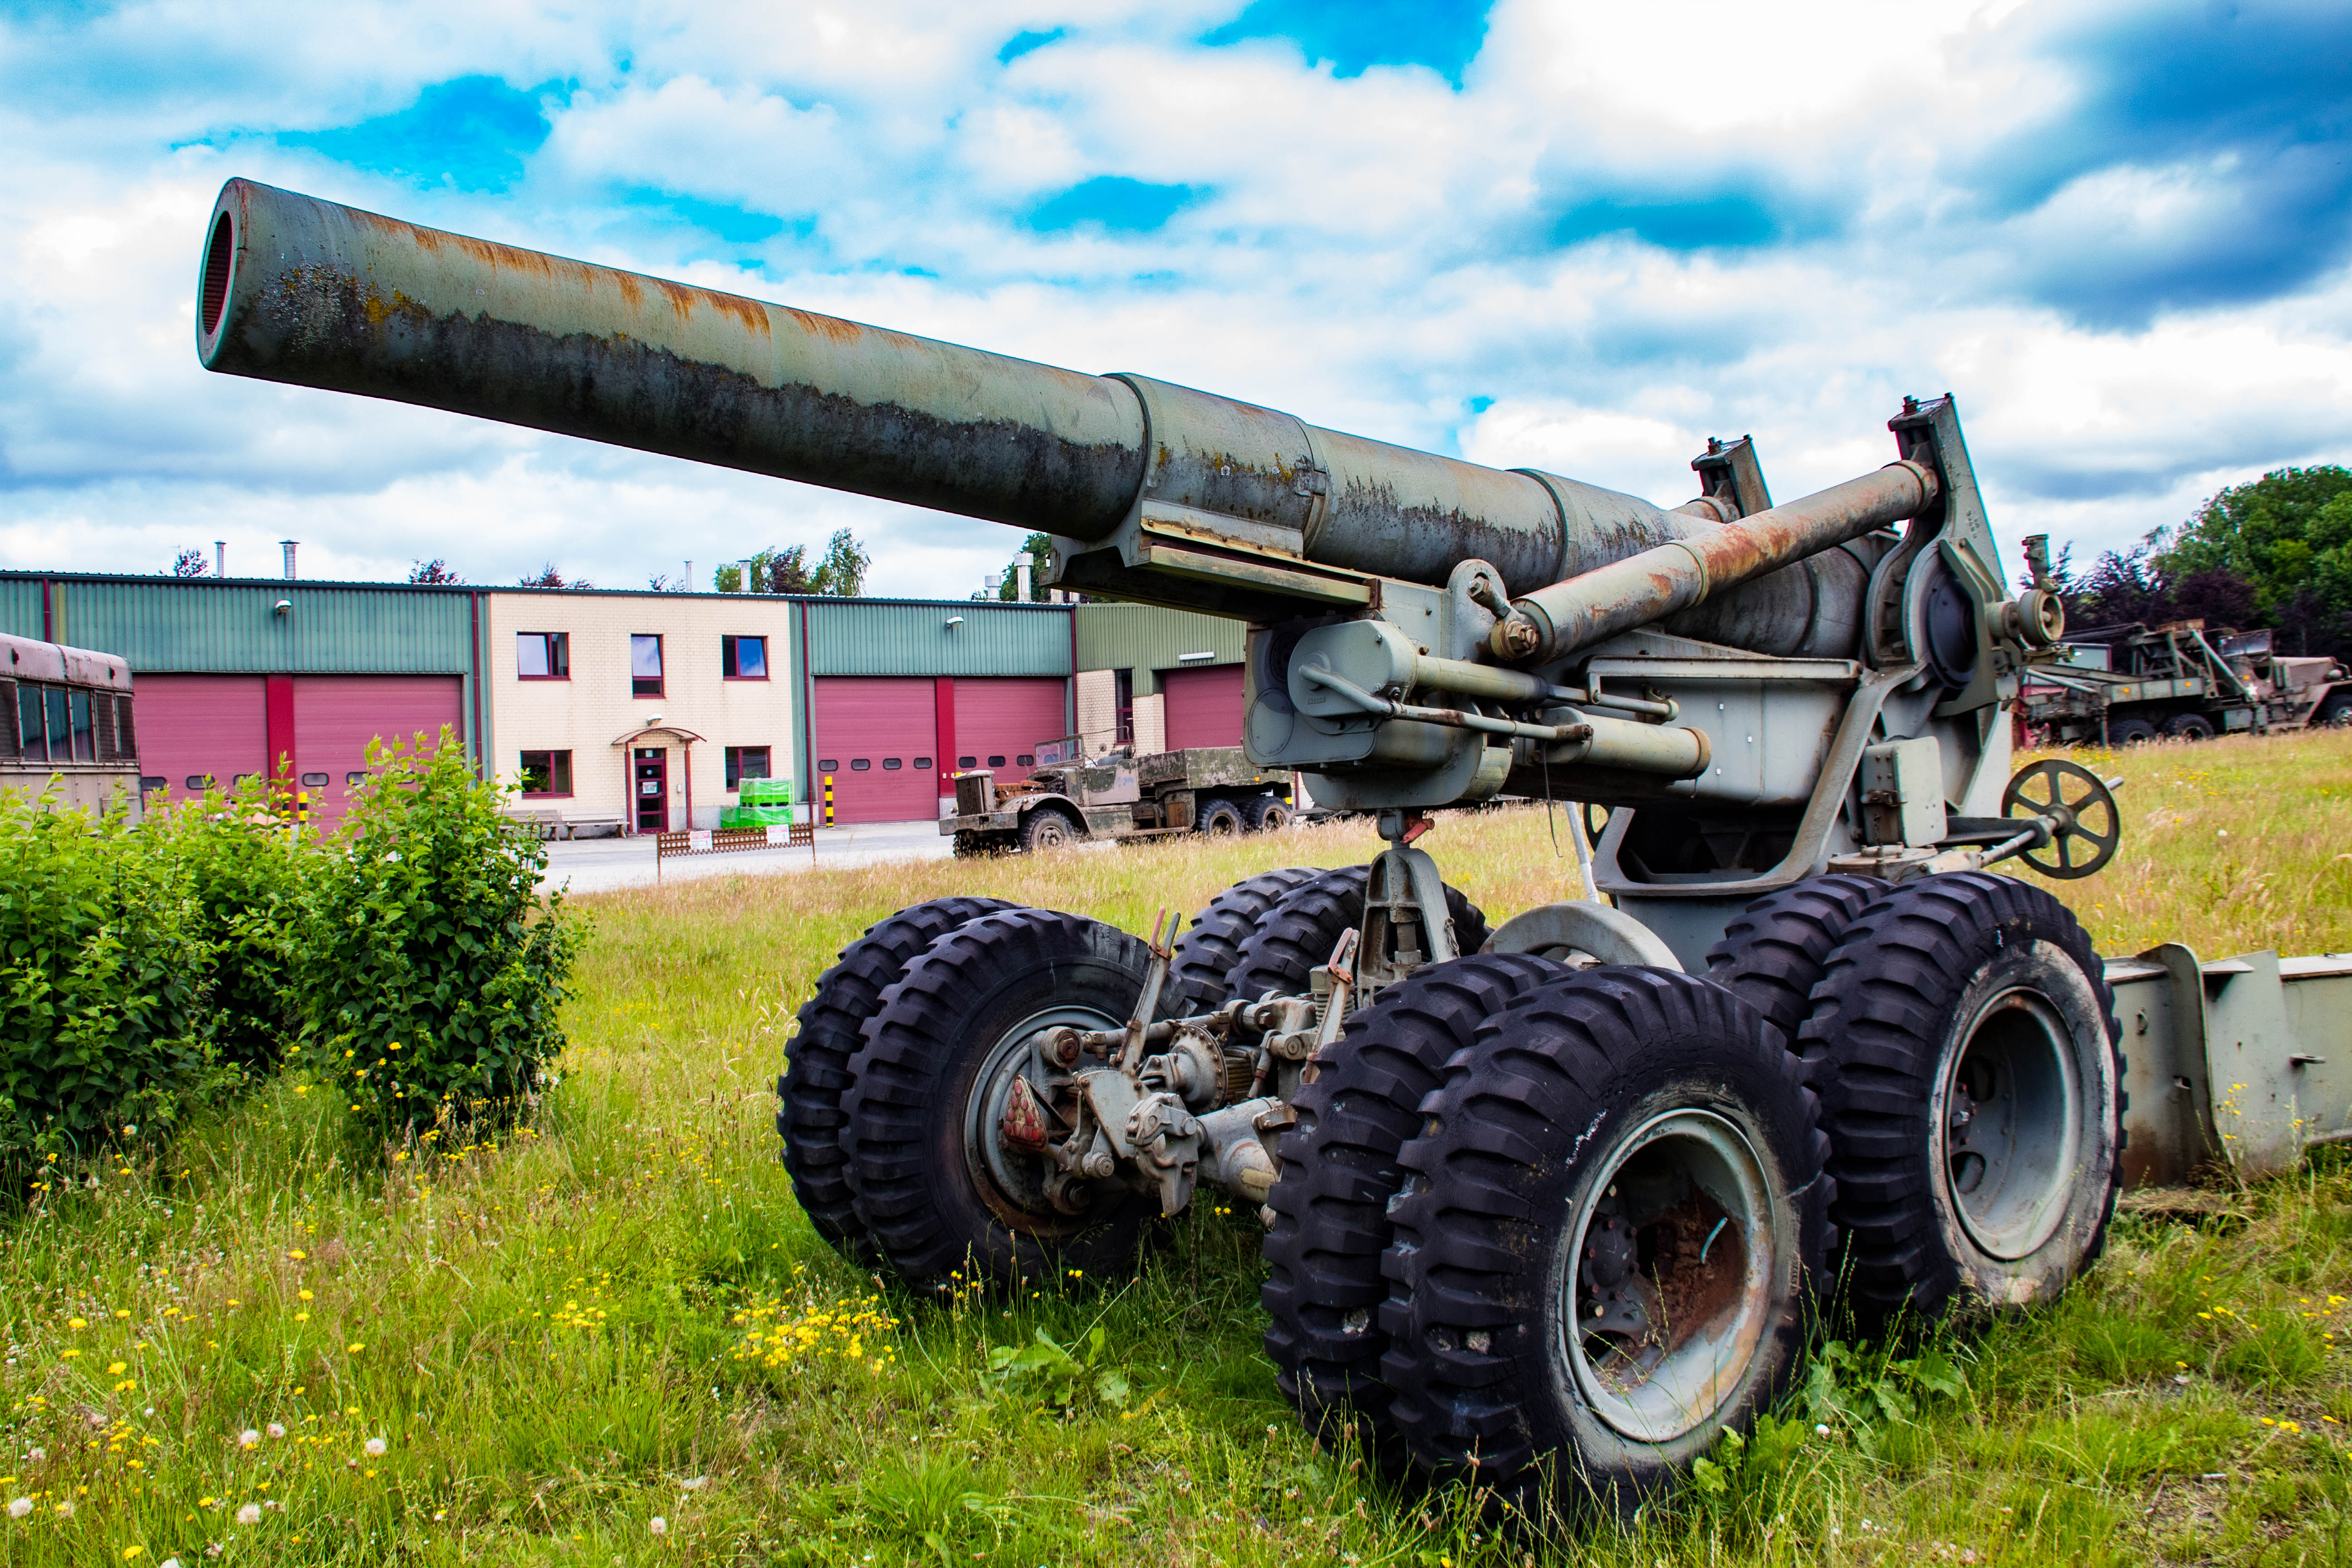
<svg viewBox="0 0 2352 1568">
<path fill-rule="evenodd" d="M 910 1284 L 1009 1291 L 1134 1258 L 1157 1201 L 1094 1182 L 1065 1213 L 1044 1192 L 1049 1161 L 997 1128 L 1014 1079 L 1037 1072 L 1035 1039 L 1120 1027 L 1148 966 L 1141 940 L 1054 910 L 983 914 L 906 966 L 866 1023 L 842 1114 L 856 1215 Z"/>
</svg>

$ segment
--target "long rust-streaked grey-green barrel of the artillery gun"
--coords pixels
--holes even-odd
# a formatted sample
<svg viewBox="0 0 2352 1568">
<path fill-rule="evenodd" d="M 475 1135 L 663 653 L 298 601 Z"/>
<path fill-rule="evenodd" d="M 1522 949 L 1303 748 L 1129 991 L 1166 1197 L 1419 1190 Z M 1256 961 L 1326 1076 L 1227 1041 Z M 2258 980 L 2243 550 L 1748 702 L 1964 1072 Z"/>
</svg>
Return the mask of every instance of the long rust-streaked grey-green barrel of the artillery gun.
<svg viewBox="0 0 2352 1568">
<path fill-rule="evenodd" d="M 198 357 L 1040 529 L 1073 552 L 1148 510 L 1157 557 L 1138 545 L 1124 564 L 1169 581 L 1185 578 L 1188 550 L 1406 583 L 1444 583 L 1475 557 L 1529 592 L 1719 527 L 1145 376 L 1054 369 L 242 179 L 214 207 Z M 1355 597 L 1303 576 L 1305 597 Z M 1301 583 L 1254 588 L 1225 607 L 1268 621 Z"/>
</svg>

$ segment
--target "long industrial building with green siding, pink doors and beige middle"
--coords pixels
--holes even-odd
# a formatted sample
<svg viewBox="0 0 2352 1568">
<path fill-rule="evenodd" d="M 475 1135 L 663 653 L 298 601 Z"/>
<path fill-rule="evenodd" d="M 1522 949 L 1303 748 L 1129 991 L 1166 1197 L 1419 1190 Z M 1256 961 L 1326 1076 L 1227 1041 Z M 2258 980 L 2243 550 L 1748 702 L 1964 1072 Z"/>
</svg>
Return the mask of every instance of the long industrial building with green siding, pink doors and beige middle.
<svg viewBox="0 0 2352 1568">
<path fill-rule="evenodd" d="M 0 632 L 120 654 L 141 788 L 273 766 L 336 820 L 374 738 L 461 738 L 583 827 L 710 827 L 743 778 L 934 818 L 1035 745 L 1240 745 L 1235 621 L 1136 604 L 0 574 Z"/>
</svg>

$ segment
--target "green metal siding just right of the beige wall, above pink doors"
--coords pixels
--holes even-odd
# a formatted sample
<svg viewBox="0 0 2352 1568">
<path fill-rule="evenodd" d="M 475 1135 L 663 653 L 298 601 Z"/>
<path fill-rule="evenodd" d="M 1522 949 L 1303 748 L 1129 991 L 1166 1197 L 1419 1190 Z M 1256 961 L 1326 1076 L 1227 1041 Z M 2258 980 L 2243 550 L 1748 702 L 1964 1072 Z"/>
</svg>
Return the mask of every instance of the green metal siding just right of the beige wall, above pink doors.
<svg viewBox="0 0 2352 1568">
<path fill-rule="evenodd" d="M 809 675 L 1070 675 L 1070 611 L 985 599 L 802 599 Z M 948 625 L 962 616 L 962 625 Z"/>
</svg>

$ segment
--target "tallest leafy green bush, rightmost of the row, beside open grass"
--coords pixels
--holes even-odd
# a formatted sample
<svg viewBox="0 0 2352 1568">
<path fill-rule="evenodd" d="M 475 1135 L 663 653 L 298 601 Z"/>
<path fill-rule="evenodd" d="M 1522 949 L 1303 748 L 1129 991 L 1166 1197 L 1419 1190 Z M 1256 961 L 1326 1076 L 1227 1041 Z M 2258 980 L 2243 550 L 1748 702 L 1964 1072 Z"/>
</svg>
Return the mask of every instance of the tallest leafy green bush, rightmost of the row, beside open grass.
<svg viewBox="0 0 2352 1568">
<path fill-rule="evenodd" d="M 508 1121 L 562 1051 L 583 931 L 562 896 L 541 903 L 543 865 L 456 741 L 369 750 L 306 879 L 294 971 L 308 1048 L 362 1133 Z"/>
</svg>

